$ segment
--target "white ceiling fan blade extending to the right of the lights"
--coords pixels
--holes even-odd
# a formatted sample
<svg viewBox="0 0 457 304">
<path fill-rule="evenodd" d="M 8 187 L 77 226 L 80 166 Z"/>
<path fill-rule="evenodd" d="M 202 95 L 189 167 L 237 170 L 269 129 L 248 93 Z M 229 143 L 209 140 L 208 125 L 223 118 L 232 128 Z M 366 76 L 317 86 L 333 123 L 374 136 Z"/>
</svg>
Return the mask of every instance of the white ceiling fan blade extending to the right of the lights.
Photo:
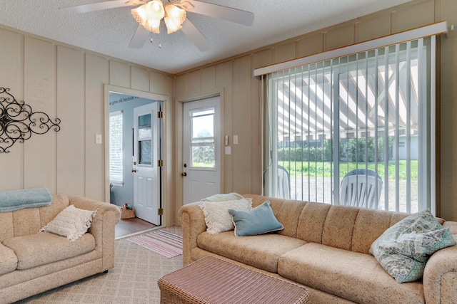
<svg viewBox="0 0 457 304">
<path fill-rule="evenodd" d="M 233 9 L 228 6 L 221 6 L 219 4 L 194 0 L 184 0 L 181 2 L 181 4 L 186 8 L 186 11 L 190 11 L 191 13 L 224 19 L 227 21 L 240 23 L 245 26 L 251 26 L 254 21 L 254 14 L 250 11 L 243 11 L 241 9 Z"/>
</svg>

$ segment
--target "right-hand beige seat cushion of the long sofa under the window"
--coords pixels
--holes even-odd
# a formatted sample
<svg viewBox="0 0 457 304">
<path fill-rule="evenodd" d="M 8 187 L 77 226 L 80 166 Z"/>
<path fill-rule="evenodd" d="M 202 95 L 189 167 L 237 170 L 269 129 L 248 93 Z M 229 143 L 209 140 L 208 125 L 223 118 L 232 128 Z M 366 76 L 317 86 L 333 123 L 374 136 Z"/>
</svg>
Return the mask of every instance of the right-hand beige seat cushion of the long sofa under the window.
<svg viewBox="0 0 457 304">
<path fill-rule="evenodd" d="M 356 303 L 424 303 L 422 283 L 398 284 L 373 256 L 318 243 L 285 253 L 278 273 Z"/>
</svg>

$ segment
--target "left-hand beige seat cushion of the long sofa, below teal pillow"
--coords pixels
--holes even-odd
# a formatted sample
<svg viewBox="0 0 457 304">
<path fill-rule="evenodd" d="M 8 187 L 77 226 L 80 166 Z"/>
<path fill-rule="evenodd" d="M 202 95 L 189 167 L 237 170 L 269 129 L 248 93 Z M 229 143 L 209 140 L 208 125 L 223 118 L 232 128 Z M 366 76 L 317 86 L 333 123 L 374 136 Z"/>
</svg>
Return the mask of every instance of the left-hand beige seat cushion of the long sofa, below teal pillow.
<svg viewBox="0 0 457 304">
<path fill-rule="evenodd" d="M 203 232 L 199 234 L 197 243 L 200 248 L 219 256 L 276 273 L 278 258 L 306 242 L 278 234 L 236 237 L 233 231 L 226 231 L 221 234 Z"/>
</svg>

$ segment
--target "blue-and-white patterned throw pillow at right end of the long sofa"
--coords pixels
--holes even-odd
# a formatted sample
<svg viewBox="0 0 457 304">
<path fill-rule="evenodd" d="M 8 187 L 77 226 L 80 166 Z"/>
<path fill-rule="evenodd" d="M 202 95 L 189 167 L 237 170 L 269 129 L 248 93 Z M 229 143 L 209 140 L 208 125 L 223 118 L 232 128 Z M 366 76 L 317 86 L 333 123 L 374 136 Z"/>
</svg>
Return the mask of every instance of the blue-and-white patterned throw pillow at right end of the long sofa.
<svg viewBox="0 0 457 304">
<path fill-rule="evenodd" d="M 449 229 L 425 209 L 384 231 L 371 244 L 370 253 L 398 283 L 404 283 L 422 278 L 428 258 L 455 243 Z"/>
</svg>

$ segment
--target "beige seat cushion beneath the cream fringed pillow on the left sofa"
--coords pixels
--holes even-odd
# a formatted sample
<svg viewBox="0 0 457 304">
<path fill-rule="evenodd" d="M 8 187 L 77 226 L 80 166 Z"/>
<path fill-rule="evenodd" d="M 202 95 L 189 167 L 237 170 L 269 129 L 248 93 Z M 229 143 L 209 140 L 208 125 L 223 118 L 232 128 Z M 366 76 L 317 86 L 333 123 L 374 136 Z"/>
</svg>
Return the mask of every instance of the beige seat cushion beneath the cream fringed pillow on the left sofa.
<svg viewBox="0 0 457 304">
<path fill-rule="evenodd" d="M 92 251 L 95 239 L 91 234 L 84 234 L 71 242 L 64 236 L 43 232 L 6 239 L 3 244 L 16 253 L 17 269 L 28 269 Z"/>
</svg>

